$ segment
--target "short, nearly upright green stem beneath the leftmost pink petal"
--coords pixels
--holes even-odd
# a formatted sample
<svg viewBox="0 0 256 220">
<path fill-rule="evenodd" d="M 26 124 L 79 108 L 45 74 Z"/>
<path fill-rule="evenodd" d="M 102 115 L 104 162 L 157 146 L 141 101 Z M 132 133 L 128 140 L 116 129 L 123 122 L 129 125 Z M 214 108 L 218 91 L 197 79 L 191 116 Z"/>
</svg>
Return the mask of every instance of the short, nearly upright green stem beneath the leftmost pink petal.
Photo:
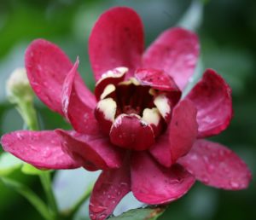
<svg viewBox="0 0 256 220">
<path fill-rule="evenodd" d="M 44 192 L 47 196 L 50 210 L 54 213 L 54 215 L 56 217 L 58 215 L 59 211 L 58 211 L 58 206 L 56 204 L 55 195 L 51 188 L 50 174 L 48 171 L 43 171 L 42 174 L 39 175 L 39 177 L 42 182 Z"/>
</svg>

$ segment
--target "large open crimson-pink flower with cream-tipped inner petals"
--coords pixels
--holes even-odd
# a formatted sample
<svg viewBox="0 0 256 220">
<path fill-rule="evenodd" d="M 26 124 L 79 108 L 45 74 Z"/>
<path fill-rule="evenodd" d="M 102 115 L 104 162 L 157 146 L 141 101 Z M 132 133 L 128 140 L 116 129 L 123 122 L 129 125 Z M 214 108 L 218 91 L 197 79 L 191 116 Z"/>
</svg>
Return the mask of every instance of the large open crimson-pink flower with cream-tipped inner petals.
<svg viewBox="0 0 256 220">
<path fill-rule="evenodd" d="M 231 90 L 207 69 L 181 99 L 199 55 L 195 33 L 166 30 L 143 51 L 143 25 L 129 8 L 109 9 L 89 40 L 95 96 L 55 44 L 26 49 L 32 89 L 74 130 L 18 130 L 3 149 L 38 168 L 102 170 L 90 197 L 90 218 L 105 219 L 130 191 L 146 204 L 166 204 L 195 180 L 217 188 L 247 188 L 247 165 L 228 148 L 203 138 L 226 129 Z"/>
</svg>

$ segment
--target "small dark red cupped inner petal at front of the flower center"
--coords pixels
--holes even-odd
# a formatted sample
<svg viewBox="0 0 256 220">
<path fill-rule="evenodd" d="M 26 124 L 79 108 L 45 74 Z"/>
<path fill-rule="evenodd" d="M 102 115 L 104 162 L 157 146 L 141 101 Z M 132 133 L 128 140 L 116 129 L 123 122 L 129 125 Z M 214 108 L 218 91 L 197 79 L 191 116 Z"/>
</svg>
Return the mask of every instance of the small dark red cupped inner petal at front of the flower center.
<svg viewBox="0 0 256 220">
<path fill-rule="evenodd" d="M 154 130 L 136 114 L 120 114 L 109 136 L 111 142 L 120 148 L 145 150 L 154 143 Z"/>
</svg>

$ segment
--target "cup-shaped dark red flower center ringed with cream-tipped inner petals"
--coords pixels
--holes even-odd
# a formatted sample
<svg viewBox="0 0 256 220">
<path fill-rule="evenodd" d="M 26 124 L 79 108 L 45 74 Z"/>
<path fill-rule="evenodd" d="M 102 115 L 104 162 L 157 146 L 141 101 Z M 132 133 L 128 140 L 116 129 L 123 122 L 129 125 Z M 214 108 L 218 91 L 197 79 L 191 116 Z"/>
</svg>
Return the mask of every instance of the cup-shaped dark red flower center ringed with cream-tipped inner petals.
<svg viewBox="0 0 256 220">
<path fill-rule="evenodd" d="M 165 91 L 137 78 L 125 80 L 125 72 L 126 68 L 116 68 L 96 84 L 96 119 L 114 145 L 145 150 L 166 130 L 172 101 Z"/>
</svg>

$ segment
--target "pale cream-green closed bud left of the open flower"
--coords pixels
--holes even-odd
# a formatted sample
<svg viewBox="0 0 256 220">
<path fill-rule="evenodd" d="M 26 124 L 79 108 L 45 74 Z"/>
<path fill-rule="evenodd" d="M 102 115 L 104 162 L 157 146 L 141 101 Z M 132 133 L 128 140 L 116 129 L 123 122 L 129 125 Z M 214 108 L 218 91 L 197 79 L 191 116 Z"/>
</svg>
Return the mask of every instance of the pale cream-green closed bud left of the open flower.
<svg viewBox="0 0 256 220">
<path fill-rule="evenodd" d="M 33 91 L 25 68 L 17 68 L 11 73 L 6 82 L 6 93 L 12 103 L 32 101 Z"/>
</svg>

